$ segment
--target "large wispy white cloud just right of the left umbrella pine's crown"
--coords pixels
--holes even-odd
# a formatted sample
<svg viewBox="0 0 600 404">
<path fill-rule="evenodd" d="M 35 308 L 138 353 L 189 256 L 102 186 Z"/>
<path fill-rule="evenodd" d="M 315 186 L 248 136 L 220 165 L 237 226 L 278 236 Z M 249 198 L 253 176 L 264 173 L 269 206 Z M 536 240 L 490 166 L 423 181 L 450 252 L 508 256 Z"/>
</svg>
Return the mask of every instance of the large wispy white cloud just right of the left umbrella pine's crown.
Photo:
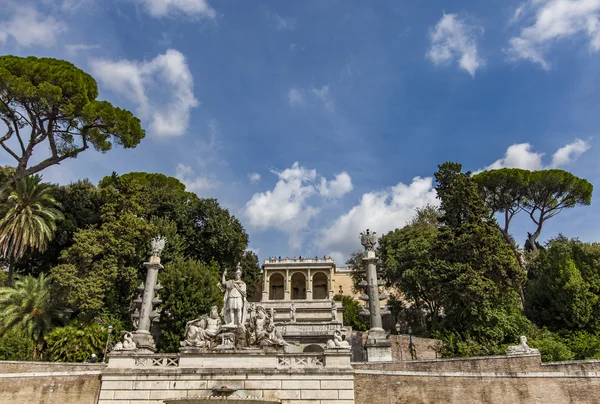
<svg viewBox="0 0 600 404">
<path fill-rule="evenodd" d="M 199 105 L 185 56 L 174 49 L 149 62 L 92 60 L 92 73 L 104 87 L 134 103 L 150 131 L 158 136 L 183 135 L 190 110 Z"/>
</svg>

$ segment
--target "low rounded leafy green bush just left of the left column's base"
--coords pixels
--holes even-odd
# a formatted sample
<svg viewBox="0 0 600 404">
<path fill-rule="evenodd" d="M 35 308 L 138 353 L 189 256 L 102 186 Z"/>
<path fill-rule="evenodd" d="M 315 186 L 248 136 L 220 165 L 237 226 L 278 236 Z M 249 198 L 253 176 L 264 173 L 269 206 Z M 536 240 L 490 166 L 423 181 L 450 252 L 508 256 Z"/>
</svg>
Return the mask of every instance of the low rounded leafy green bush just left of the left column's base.
<svg viewBox="0 0 600 404">
<path fill-rule="evenodd" d="M 47 357 L 53 362 L 83 362 L 92 354 L 102 355 L 108 330 L 96 321 L 78 320 L 52 330 L 46 342 Z"/>
</svg>

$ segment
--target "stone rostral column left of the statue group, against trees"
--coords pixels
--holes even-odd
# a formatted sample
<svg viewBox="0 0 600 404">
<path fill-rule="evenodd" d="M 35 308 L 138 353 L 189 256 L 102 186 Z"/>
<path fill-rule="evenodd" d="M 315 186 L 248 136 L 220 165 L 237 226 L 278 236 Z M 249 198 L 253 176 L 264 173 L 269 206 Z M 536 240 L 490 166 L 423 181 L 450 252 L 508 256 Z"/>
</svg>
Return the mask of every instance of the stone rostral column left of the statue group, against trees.
<svg viewBox="0 0 600 404">
<path fill-rule="evenodd" d="M 152 324 L 153 305 L 157 303 L 155 292 L 157 289 L 156 280 L 158 278 L 158 271 L 163 269 L 163 266 L 160 264 L 160 253 L 164 248 L 164 243 L 164 238 L 157 237 L 152 240 L 152 257 L 150 257 L 149 262 L 144 262 L 144 266 L 148 269 L 148 272 L 146 273 L 146 282 L 144 283 L 140 320 L 137 330 L 133 333 L 133 341 L 137 345 L 138 352 L 156 351 L 154 338 L 150 334 L 150 326 Z"/>
</svg>

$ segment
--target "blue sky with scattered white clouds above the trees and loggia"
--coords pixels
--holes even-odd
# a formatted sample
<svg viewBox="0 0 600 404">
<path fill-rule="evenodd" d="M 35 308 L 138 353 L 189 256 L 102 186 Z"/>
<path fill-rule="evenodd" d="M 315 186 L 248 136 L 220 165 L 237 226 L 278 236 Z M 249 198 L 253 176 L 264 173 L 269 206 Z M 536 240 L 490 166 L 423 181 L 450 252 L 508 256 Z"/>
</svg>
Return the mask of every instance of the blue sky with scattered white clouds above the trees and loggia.
<svg viewBox="0 0 600 404">
<path fill-rule="evenodd" d="M 437 165 L 559 167 L 600 183 L 600 0 L 0 0 L 0 53 L 69 60 L 141 117 L 135 149 L 48 181 L 177 176 L 261 259 L 331 254 L 435 202 Z M 39 153 L 38 158 L 43 153 Z M 12 164 L 0 154 L 0 163 Z M 559 232 L 600 239 L 600 208 Z M 515 223 L 519 242 L 533 225 Z"/>
</svg>

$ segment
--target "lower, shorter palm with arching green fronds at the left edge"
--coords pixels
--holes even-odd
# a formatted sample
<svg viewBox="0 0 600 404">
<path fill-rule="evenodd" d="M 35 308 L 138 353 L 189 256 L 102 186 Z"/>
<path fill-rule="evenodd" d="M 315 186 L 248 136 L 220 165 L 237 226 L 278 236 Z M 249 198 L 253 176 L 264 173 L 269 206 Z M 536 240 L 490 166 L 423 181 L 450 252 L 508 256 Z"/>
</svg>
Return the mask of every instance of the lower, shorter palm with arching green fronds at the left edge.
<svg viewBox="0 0 600 404">
<path fill-rule="evenodd" d="M 61 318 L 52 277 L 31 275 L 15 282 L 15 287 L 0 288 L 0 336 L 9 330 L 19 330 L 35 343 L 33 359 L 44 346 L 45 336 Z"/>
</svg>

